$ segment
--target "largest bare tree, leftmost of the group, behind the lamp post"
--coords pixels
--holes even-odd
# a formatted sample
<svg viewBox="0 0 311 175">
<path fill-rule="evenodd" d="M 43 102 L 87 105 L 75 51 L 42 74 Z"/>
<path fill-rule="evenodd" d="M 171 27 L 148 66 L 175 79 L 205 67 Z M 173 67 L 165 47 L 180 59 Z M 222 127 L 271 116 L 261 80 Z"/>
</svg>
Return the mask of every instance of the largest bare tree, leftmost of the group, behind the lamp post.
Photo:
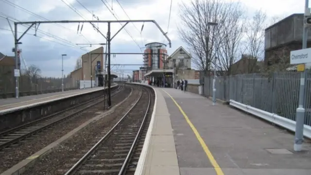
<svg viewBox="0 0 311 175">
<path fill-rule="evenodd" d="M 192 62 L 200 70 L 210 69 L 219 42 L 219 31 L 224 28 L 225 19 L 232 9 L 233 2 L 225 0 L 192 0 L 190 4 L 181 3 L 181 26 L 178 27 L 180 38 L 190 48 Z M 217 22 L 210 26 L 209 22 Z"/>
</svg>

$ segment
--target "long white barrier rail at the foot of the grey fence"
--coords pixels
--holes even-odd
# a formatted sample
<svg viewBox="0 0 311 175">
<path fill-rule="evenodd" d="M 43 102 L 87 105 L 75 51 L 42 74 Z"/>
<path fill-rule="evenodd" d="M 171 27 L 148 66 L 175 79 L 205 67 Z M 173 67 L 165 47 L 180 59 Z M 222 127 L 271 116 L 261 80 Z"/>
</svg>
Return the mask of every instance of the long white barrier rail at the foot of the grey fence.
<svg viewBox="0 0 311 175">
<path fill-rule="evenodd" d="M 275 123 L 278 126 L 281 126 L 283 128 L 286 128 L 290 131 L 295 132 L 295 126 L 296 122 L 292 121 L 290 119 L 286 119 L 284 117 L 278 116 L 277 114 L 273 114 L 267 111 L 263 111 L 260 109 L 257 109 L 255 107 L 252 107 L 250 105 L 244 105 L 242 103 L 236 102 L 234 100 L 230 100 L 230 105 L 239 108 L 245 112 L 248 112 L 250 114 L 253 114 L 261 119 L 264 119 L 268 122 Z M 303 135 L 309 139 L 311 139 L 311 126 L 304 125 L 303 129 Z"/>
</svg>

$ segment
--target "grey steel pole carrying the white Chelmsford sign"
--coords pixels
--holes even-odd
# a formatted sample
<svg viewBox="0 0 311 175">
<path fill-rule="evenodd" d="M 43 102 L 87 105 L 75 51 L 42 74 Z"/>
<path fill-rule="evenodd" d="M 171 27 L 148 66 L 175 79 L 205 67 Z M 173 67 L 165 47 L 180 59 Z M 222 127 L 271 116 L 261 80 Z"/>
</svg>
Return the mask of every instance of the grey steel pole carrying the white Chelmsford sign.
<svg viewBox="0 0 311 175">
<path fill-rule="evenodd" d="M 309 0 L 305 0 L 305 9 L 306 12 L 309 10 Z M 306 17 L 306 14 L 305 14 Z M 307 48 L 307 40 L 308 40 L 308 31 L 307 26 L 304 21 L 303 25 L 303 34 L 302 34 L 302 49 Z M 305 120 L 305 77 L 306 71 L 302 71 L 300 73 L 300 87 L 299 87 L 299 105 L 296 109 L 296 128 L 295 128 L 295 138 L 294 138 L 294 151 L 302 150 L 303 143 L 303 128 L 304 128 L 304 120 Z"/>
</svg>

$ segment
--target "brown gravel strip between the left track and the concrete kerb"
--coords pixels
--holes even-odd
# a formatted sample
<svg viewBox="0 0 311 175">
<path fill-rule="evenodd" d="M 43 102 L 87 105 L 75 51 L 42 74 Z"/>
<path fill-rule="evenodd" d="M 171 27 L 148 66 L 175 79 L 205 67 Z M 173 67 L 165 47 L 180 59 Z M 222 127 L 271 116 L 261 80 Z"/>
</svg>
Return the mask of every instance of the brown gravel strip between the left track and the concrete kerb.
<svg viewBox="0 0 311 175">
<path fill-rule="evenodd" d="M 131 88 L 125 88 L 123 91 L 118 93 L 112 98 L 112 105 L 120 103 L 125 99 Z M 35 136 L 18 142 L 10 148 L 4 149 L 0 152 L 0 173 L 3 173 L 7 169 L 11 168 L 23 159 L 31 156 L 35 152 L 49 145 L 53 141 L 61 138 L 69 131 L 78 127 L 87 120 L 99 115 L 99 112 L 103 112 L 103 103 L 95 105 L 76 117 L 72 117 L 62 123 L 58 123 L 51 128 L 44 130 L 42 133 L 38 133 Z"/>
</svg>

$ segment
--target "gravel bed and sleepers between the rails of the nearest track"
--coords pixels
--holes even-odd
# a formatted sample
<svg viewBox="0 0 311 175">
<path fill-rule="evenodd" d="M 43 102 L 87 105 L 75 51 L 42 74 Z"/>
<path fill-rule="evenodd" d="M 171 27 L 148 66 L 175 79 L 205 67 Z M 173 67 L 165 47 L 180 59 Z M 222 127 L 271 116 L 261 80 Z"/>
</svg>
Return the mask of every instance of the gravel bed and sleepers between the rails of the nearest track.
<svg viewBox="0 0 311 175">
<path fill-rule="evenodd" d="M 131 112 L 123 119 L 123 121 L 117 125 L 117 127 L 110 133 L 109 137 L 102 141 L 97 148 L 86 158 L 86 161 L 81 167 L 79 167 L 76 172 L 71 174 L 105 174 L 105 175 L 117 175 L 125 161 L 130 148 L 138 134 L 138 130 L 144 119 L 146 110 L 148 109 L 148 114 L 146 120 L 151 118 L 153 105 L 149 103 L 149 90 L 144 89 L 142 97 L 138 104 L 132 109 Z M 150 102 L 152 103 L 152 95 Z M 150 111 L 151 110 L 151 111 Z M 148 128 L 148 123 L 146 128 Z M 144 129 L 142 130 L 144 131 Z M 141 133 L 145 135 L 145 133 Z M 142 145 L 139 143 L 143 140 L 138 139 L 137 145 L 141 149 Z M 96 142 L 88 144 L 88 150 L 95 145 Z M 138 156 L 140 152 L 136 152 L 132 157 Z M 76 157 L 77 159 L 81 157 Z M 76 161 L 72 161 L 71 166 L 73 166 Z M 131 164 L 133 167 L 134 164 Z M 96 172 L 96 173 L 95 173 Z M 70 174 L 70 175 L 71 175 Z"/>
</svg>

